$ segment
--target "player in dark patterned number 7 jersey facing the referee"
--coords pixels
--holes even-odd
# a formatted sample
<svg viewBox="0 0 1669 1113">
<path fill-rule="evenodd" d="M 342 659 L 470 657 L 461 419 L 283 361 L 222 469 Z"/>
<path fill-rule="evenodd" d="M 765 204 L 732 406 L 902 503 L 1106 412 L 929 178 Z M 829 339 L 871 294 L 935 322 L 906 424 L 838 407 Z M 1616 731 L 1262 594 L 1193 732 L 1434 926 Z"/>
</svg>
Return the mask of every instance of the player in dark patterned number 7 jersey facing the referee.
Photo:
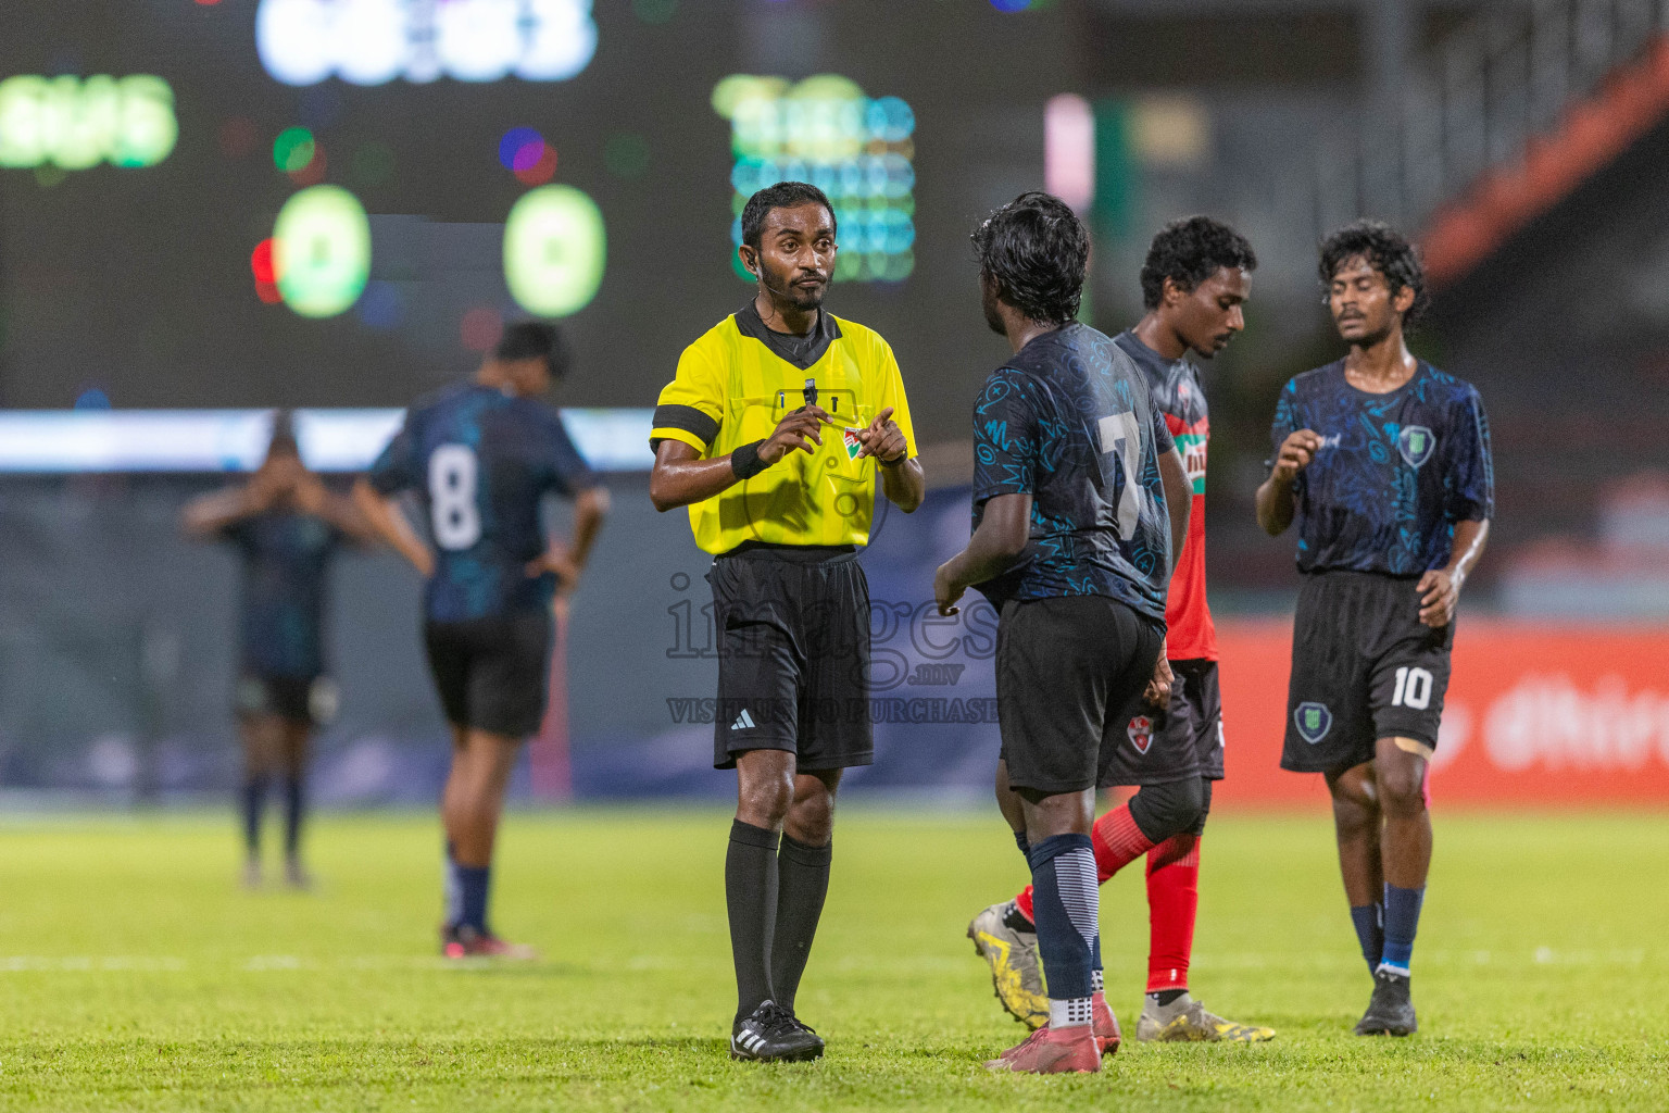
<svg viewBox="0 0 1669 1113">
<path fill-rule="evenodd" d="M 1165 592 L 1192 489 L 1142 369 L 1078 324 L 1090 235 L 1065 202 L 1021 194 L 973 234 L 985 319 L 1013 357 L 973 415 L 973 537 L 940 566 L 955 614 L 976 586 L 1000 612 L 996 798 L 1031 868 L 1048 1021 L 986 1066 L 1098 1071 L 1118 1050 L 1102 985 L 1095 784 L 1143 696 L 1168 696 Z M 1198 773 L 1188 784 L 1198 794 Z"/>
</svg>

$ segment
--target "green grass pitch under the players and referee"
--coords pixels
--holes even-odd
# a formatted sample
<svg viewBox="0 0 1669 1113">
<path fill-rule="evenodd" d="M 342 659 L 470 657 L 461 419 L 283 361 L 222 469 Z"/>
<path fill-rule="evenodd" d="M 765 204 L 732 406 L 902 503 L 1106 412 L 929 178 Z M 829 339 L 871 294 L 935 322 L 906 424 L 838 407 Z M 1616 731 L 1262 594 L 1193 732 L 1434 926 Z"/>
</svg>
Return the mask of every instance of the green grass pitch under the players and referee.
<svg viewBox="0 0 1669 1113">
<path fill-rule="evenodd" d="M 514 814 L 501 929 L 434 956 L 429 816 L 330 818 L 312 894 L 235 886 L 224 816 L 0 829 L 0 1110 L 1662 1110 L 1669 818 L 1437 814 L 1422 1031 L 1367 1003 L 1325 814 L 1205 839 L 1195 993 L 1273 1043 L 1127 1045 L 1102 1075 L 993 1076 L 1023 1030 L 963 938 L 1021 863 L 990 813 L 851 808 L 799 1011 L 814 1065 L 738 1065 L 713 809 Z M 1113 1006 L 1147 968 L 1140 869 L 1103 889 Z"/>
</svg>

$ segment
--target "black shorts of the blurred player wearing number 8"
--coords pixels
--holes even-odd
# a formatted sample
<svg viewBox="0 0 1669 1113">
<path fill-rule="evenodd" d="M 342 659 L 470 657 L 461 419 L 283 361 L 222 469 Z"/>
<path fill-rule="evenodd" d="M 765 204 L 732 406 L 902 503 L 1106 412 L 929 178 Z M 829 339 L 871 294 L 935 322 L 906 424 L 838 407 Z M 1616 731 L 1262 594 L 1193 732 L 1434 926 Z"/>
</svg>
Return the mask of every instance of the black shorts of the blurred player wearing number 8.
<svg viewBox="0 0 1669 1113">
<path fill-rule="evenodd" d="M 544 719 L 551 612 L 426 622 L 429 674 L 452 726 L 524 739 Z"/>
</svg>

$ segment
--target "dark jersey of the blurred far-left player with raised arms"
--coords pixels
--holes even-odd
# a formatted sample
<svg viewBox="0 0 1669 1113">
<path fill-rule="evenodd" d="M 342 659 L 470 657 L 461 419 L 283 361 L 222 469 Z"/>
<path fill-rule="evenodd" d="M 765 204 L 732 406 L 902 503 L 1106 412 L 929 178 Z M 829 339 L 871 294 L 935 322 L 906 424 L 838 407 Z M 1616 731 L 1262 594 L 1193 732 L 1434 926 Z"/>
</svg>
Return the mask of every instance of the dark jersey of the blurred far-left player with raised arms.
<svg viewBox="0 0 1669 1113">
<path fill-rule="evenodd" d="M 270 511 L 220 536 L 244 557 L 239 669 L 264 679 L 324 674 L 324 606 L 342 534 L 312 514 Z"/>
</svg>

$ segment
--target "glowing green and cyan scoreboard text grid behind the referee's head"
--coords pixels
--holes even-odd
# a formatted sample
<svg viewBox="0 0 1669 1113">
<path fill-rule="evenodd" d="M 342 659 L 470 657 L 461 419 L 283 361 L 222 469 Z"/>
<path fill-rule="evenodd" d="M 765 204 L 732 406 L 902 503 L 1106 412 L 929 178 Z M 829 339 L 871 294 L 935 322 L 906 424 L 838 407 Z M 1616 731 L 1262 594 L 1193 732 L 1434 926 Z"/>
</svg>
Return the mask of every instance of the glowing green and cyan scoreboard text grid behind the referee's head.
<svg viewBox="0 0 1669 1113">
<path fill-rule="evenodd" d="M 848 77 L 799 83 L 733 73 L 713 88 L 713 110 L 731 122 L 731 242 L 741 245 L 741 205 L 783 180 L 811 182 L 834 204 L 834 277 L 900 282 L 915 269 L 915 110 L 898 97 L 871 100 Z M 738 275 L 751 280 L 733 255 Z"/>
</svg>

